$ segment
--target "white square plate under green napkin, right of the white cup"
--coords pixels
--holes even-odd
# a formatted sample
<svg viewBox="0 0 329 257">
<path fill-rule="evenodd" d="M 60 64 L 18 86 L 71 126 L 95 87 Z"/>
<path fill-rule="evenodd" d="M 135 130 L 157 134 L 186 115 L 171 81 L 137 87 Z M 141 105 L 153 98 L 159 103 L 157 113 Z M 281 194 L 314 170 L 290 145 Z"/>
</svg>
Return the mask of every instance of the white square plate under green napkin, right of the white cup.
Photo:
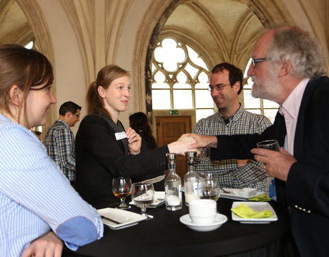
<svg viewBox="0 0 329 257">
<path fill-rule="evenodd" d="M 241 218 L 232 212 L 232 220 L 239 221 L 240 223 L 253 223 L 253 224 L 265 224 L 272 221 L 277 221 L 278 217 L 276 216 L 275 210 L 272 208 L 271 204 L 260 201 L 233 201 L 232 208 L 236 208 L 240 204 L 245 204 L 246 206 L 252 208 L 255 212 L 260 212 L 262 210 L 271 210 L 272 216 L 263 218 L 263 219 L 245 219 Z"/>
</svg>

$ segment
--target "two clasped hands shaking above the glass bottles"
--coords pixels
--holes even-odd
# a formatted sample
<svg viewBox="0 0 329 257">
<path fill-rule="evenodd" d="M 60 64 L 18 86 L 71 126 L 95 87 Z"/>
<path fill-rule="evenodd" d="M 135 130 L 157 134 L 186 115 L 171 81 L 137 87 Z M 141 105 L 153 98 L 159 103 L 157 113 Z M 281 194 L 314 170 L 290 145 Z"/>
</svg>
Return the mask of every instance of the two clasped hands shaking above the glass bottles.
<svg viewBox="0 0 329 257">
<path fill-rule="evenodd" d="M 186 151 L 196 151 L 197 155 L 199 155 L 199 148 L 203 147 L 217 147 L 217 137 L 198 134 L 182 134 L 177 141 L 168 145 L 171 153 L 180 155 L 184 155 Z"/>
</svg>

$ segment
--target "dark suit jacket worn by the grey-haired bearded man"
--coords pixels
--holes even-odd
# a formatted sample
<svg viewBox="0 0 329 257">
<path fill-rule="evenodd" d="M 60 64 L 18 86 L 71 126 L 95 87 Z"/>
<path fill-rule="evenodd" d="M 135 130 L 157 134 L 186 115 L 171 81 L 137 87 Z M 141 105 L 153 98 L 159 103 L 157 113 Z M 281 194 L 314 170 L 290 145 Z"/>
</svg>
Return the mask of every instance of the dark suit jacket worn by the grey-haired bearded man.
<svg viewBox="0 0 329 257">
<path fill-rule="evenodd" d="M 294 154 L 297 160 L 287 183 L 276 180 L 278 201 L 291 207 L 291 230 L 302 256 L 329 256 L 329 78 L 306 85 L 297 118 Z M 261 135 L 218 136 L 212 158 L 246 159 L 260 140 L 283 146 L 286 127 L 281 114 Z"/>
</svg>

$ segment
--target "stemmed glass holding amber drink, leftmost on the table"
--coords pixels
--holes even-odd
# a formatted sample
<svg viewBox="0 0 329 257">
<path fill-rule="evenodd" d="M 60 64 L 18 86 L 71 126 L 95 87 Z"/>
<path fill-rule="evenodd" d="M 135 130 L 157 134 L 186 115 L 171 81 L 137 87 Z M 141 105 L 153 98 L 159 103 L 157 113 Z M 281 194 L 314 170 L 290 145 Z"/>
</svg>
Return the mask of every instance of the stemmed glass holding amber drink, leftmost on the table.
<svg viewBox="0 0 329 257">
<path fill-rule="evenodd" d="M 114 178 L 112 180 L 112 192 L 113 194 L 120 198 L 120 205 L 116 207 L 117 209 L 129 209 L 131 206 L 125 204 L 125 197 L 132 193 L 132 180 L 131 178 Z"/>
</svg>

